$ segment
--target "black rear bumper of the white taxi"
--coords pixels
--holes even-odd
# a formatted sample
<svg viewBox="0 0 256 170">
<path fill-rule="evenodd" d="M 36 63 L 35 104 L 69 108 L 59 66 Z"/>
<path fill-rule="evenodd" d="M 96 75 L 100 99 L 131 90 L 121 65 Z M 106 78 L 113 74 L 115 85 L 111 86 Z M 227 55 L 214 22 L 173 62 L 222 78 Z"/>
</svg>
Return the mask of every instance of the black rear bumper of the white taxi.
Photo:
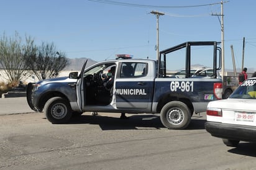
<svg viewBox="0 0 256 170">
<path fill-rule="evenodd" d="M 256 127 L 219 122 L 206 122 L 204 127 L 217 138 L 256 142 Z"/>
</svg>

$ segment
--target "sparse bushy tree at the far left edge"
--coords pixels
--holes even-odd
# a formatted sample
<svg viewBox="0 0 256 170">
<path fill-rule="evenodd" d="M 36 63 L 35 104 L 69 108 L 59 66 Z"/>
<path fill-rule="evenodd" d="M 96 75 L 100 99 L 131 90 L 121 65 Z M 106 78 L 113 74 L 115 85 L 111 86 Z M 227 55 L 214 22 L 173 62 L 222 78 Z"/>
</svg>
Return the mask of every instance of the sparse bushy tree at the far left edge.
<svg viewBox="0 0 256 170">
<path fill-rule="evenodd" d="M 14 37 L 7 38 L 5 34 L 0 38 L 0 65 L 6 73 L 9 83 L 18 84 L 25 75 L 27 66 L 25 65 L 24 54 L 30 49 L 34 40 L 26 37 L 25 45 L 22 45 L 22 39 L 16 32 Z"/>
</svg>

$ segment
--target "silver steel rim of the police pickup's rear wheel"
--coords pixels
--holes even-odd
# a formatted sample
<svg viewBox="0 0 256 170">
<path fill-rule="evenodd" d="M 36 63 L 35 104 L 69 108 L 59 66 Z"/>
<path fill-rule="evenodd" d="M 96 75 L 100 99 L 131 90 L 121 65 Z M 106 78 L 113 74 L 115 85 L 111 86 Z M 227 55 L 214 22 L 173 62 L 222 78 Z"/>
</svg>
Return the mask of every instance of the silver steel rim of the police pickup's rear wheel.
<svg viewBox="0 0 256 170">
<path fill-rule="evenodd" d="M 178 108 L 173 108 L 167 113 L 168 122 L 178 125 L 184 119 L 184 113 Z"/>
</svg>

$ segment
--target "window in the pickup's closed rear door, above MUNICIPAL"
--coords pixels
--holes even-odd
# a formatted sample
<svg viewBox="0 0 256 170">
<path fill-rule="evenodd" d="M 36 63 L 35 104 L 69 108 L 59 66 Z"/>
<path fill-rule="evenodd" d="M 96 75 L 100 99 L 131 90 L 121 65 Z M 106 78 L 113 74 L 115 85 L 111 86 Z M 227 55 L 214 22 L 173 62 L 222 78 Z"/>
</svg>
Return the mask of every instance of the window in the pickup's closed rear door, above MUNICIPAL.
<svg viewBox="0 0 256 170">
<path fill-rule="evenodd" d="M 124 62 L 121 65 L 121 78 L 140 78 L 147 75 L 147 63 Z"/>
</svg>

